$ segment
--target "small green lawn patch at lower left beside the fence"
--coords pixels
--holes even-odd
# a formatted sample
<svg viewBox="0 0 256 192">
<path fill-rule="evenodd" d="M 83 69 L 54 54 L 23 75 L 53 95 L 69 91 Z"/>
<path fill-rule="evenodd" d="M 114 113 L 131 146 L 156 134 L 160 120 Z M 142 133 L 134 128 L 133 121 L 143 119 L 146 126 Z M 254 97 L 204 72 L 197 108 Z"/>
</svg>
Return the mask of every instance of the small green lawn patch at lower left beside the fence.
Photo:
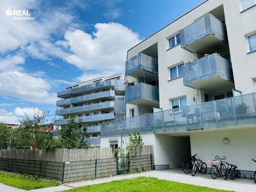
<svg viewBox="0 0 256 192">
<path fill-rule="evenodd" d="M 27 179 L 20 177 L 19 175 L 11 175 L 8 173 L 0 173 L 0 182 L 6 186 L 24 190 L 49 188 L 59 185 L 58 182 L 44 182 L 42 180 Z"/>
</svg>

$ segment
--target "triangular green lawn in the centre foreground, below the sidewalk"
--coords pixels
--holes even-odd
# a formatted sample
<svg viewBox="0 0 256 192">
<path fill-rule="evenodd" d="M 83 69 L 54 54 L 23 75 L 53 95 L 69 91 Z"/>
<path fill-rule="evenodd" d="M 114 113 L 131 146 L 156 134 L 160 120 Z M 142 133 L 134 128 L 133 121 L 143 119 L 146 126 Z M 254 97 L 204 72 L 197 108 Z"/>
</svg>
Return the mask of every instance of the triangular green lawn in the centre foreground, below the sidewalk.
<svg viewBox="0 0 256 192">
<path fill-rule="evenodd" d="M 134 179 L 114 180 L 112 182 L 106 182 L 102 184 L 84 186 L 84 187 L 68 190 L 68 192 L 81 192 L 81 191 L 86 191 L 86 192 L 88 191 L 93 191 L 93 192 L 216 191 L 217 192 L 217 191 L 225 191 L 225 190 L 193 186 L 190 184 L 182 184 L 179 182 L 171 182 L 168 180 L 161 180 L 154 177 L 137 177 Z"/>
</svg>

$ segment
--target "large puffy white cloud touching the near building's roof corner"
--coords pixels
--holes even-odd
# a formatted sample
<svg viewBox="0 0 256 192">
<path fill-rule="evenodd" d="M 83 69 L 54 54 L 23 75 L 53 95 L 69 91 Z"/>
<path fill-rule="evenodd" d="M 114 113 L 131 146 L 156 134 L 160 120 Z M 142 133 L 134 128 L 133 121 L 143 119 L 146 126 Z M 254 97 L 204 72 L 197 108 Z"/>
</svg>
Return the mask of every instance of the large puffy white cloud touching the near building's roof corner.
<svg viewBox="0 0 256 192">
<path fill-rule="evenodd" d="M 124 72 L 127 50 L 140 42 L 137 33 L 122 24 L 95 24 L 93 36 L 81 30 L 67 31 L 65 39 L 74 54 L 65 60 L 83 70 Z"/>
</svg>

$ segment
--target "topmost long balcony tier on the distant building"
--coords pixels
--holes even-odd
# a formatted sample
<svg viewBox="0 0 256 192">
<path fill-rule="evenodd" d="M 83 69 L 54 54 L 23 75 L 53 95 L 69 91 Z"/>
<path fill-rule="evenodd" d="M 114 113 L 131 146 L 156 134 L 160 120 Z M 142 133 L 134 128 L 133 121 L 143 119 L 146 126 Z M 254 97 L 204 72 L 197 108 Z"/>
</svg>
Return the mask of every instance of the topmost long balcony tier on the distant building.
<svg viewBox="0 0 256 192">
<path fill-rule="evenodd" d="M 68 90 L 62 90 L 57 93 L 57 97 L 68 98 L 71 94 L 84 95 L 85 93 L 97 92 L 106 90 L 116 90 L 118 92 L 124 92 L 124 80 L 111 79 L 108 81 L 99 81 L 97 83 L 86 84 L 78 86 L 76 88 L 70 88 Z"/>
</svg>

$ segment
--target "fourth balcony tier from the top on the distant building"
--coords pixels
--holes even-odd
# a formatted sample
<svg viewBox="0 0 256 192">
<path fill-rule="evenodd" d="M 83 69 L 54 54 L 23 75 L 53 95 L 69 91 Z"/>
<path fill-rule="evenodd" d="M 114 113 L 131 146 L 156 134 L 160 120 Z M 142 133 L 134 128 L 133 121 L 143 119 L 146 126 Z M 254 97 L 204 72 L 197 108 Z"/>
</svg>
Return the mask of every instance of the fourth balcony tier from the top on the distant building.
<svg viewBox="0 0 256 192">
<path fill-rule="evenodd" d="M 106 113 L 106 114 L 99 114 L 99 115 L 89 115 L 89 116 L 80 116 L 76 117 L 76 121 L 78 122 L 78 119 L 81 118 L 84 123 L 88 122 L 99 122 L 99 121 L 109 121 L 115 119 L 114 113 Z M 68 118 L 56 120 L 54 122 L 54 125 L 67 125 L 68 124 Z"/>
</svg>

